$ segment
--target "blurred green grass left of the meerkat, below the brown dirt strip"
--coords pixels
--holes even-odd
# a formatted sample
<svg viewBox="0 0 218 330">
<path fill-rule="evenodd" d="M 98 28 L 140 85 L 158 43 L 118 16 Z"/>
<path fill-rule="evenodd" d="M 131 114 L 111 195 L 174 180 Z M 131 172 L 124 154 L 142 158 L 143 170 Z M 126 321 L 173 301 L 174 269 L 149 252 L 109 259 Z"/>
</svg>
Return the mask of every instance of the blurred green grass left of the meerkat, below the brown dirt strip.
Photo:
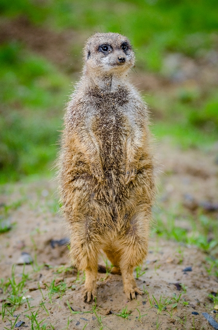
<svg viewBox="0 0 218 330">
<path fill-rule="evenodd" d="M 49 174 L 69 81 L 17 43 L 0 47 L 0 183 Z"/>
</svg>

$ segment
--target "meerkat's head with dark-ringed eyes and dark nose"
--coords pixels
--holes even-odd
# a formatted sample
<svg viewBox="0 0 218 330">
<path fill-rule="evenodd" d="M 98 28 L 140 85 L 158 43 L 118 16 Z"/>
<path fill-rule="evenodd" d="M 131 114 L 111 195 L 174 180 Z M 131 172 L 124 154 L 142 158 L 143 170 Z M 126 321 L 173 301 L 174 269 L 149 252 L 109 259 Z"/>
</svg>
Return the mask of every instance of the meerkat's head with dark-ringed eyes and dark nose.
<svg viewBox="0 0 218 330">
<path fill-rule="evenodd" d="M 88 39 L 85 66 L 98 74 L 121 74 L 135 63 L 129 40 L 119 33 L 95 33 Z"/>
</svg>

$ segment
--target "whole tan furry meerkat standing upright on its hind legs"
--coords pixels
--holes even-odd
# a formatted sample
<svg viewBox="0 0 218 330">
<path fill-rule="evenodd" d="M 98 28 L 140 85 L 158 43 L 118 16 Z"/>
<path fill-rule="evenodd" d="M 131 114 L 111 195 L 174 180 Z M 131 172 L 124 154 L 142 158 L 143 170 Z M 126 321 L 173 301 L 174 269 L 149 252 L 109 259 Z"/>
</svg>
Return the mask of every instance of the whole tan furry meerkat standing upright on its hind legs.
<svg viewBox="0 0 218 330">
<path fill-rule="evenodd" d="M 101 249 L 121 273 L 128 299 L 141 294 L 133 269 L 147 255 L 154 163 L 146 105 L 127 79 L 135 56 L 118 33 L 95 33 L 67 105 L 59 179 L 70 254 L 85 271 L 84 301 L 97 295 Z"/>
</svg>

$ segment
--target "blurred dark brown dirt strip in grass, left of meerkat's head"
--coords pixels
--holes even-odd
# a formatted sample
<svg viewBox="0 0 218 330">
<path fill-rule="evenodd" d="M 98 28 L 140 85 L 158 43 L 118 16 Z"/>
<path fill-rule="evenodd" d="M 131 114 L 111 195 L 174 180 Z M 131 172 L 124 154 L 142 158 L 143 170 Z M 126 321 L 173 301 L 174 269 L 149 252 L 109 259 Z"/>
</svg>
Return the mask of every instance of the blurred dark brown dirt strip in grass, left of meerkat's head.
<svg viewBox="0 0 218 330">
<path fill-rule="evenodd" d="M 17 40 L 69 72 L 81 68 L 78 61 L 72 60 L 72 50 L 75 43 L 79 44 L 82 50 L 85 39 L 86 36 L 74 30 L 57 33 L 45 27 L 32 25 L 25 17 L 11 21 L 3 20 L 0 23 L 0 43 Z"/>
</svg>

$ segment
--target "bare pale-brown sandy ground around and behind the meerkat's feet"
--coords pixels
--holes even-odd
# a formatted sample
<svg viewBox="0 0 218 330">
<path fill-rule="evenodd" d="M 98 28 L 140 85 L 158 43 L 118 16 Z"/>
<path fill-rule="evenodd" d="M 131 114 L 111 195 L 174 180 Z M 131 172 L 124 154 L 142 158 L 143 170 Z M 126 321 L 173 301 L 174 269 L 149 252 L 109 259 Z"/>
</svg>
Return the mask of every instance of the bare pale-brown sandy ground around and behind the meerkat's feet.
<svg viewBox="0 0 218 330">
<path fill-rule="evenodd" d="M 210 151 L 182 151 L 170 147 L 169 142 L 164 141 L 159 145 L 158 153 L 165 172 L 160 174 L 160 209 L 170 209 L 178 201 L 185 203 L 186 194 L 192 197 L 195 207 L 189 203 L 185 205 L 184 212 L 195 212 L 198 207 L 196 205 L 202 201 L 214 203 L 218 200 L 216 146 Z M 86 324 L 86 330 L 213 329 L 202 313 L 207 312 L 216 319 L 216 314 L 213 313 L 214 304 L 208 299 L 208 294 L 218 291 L 218 278 L 208 275 L 205 269 L 206 255 L 196 247 L 165 241 L 157 235 L 151 237 L 148 258 L 140 270 L 140 274 L 145 273 L 137 279 L 144 292 L 142 296 L 128 301 L 123 293 L 121 276 L 98 273 L 96 306 L 94 307 L 94 303 L 84 303 L 81 295 L 84 276 L 82 273 L 78 274 L 75 268 L 69 268 L 72 264 L 67 255 L 68 248 L 57 244 L 54 248 L 51 246 L 52 240 L 69 236 L 62 216 L 56 213 L 56 188 L 54 181 L 45 180 L 17 183 L 1 189 L 0 205 L 11 205 L 8 216 L 14 225 L 10 231 L 0 234 L 0 278 L 5 281 L 11 277 L 12 265 L 17 263 L 22 252 L 30 253 L 33 258 L 33 264 L 25 267 L 29 279 L 24 290 L 25 295 L 30 296 L 31 307 L 35 307 L 29 310 L 24 299 L 24 303 L 14 312 L 15 315 L 20 314 L 17 322 L 25 321 L 23 328 L 31 329 L 31 322 L 25 315 L 37 311 L 40 301 L 44 301 L 48 315 L 40 307 L 37 319 L 38 322 L 45 319 L 42 323 L 47 323 L 45 329 L 52 329 L 50 324 L 55 330 L 84 329 Z M 217 216 L 216 212 L 214 216 Z M 102 258 L 99 263 L 105 264 Z M 183 271 L 186 267 L 192 267 L 192 271 Z M 23 266 L 16 265 L 16 282 L 22 271 Z M 135 275 L 137 276 L 136 272 Z M 64 281 L 66 290 L 62 296 L 54 294 L 51 304 L 47 286 L 54 279 L 56 285 Z M 186 293 L 178 283 L 185 285 Z M 148 294 L 153 299 L 152 306 Z M 182 294 L 177 307 L 172 308 L 175 303 L 172 301 L 160 313 L 157 306 L 154 306 L 157 304 L 153 296 L 157 301 L 162 297 L 163 302 L 167 297 L 168 301 L 172 300 L 173 294 L 177 297 Z M 7 298 L 7 293 L 3 294 L 0 289 L 0 305 L 3 298 Z M 81 313 L 71 314 L 67 302 L 74 311 Z M 117 315 L 125 306 L 127 311 L 131 311 L 127 319 Z M 92 313 L 85 313 L 87 311 Z M 140 320 L 139 312 L 141 315 L 145 314 Z M 198 314 L 192 314 L 193 312 Z M 100 322 L 96 315 L 101 317 Z M 4 327 L 11 329 L 6 317 L 4 322 L 0 319 L 0 329 Z"/>
</svg>

